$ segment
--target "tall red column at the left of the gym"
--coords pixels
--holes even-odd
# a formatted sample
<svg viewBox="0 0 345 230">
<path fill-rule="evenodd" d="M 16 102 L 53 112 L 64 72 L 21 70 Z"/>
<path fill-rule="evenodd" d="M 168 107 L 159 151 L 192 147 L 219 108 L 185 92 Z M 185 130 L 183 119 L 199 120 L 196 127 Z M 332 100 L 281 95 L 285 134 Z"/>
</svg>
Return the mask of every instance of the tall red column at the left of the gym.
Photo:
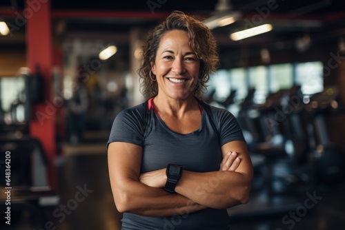
<svg viewBox="0 0 345 230">
<path fill-rule="evenodd" d="M 48 179 L 55 189 L 55 113 L 52 103 L 52 33 L 50 0 L 26 0 L 26 55 L 32 72 L 39 65 L 43 75 L 43 102 L 32 107 L 30 135 L 38 138 L 48 158 Z"/>
</svg>

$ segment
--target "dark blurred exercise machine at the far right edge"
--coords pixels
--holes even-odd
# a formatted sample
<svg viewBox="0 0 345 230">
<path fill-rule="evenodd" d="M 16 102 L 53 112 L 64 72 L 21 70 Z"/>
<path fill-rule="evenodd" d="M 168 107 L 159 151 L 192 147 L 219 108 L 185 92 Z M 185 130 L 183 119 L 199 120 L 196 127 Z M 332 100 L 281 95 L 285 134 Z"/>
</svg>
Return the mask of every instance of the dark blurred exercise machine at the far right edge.
<svg viewBox="0 0 345 230">
<path fill-rule="evenodd" d="M 337 87 L 326 87 L 306 104 L 308 143 L 313 162 L 313 186 L 339 185 L 345 179 L 345 152 L 329 140 L 326 117 L 343 113 Z"/>
</svg>

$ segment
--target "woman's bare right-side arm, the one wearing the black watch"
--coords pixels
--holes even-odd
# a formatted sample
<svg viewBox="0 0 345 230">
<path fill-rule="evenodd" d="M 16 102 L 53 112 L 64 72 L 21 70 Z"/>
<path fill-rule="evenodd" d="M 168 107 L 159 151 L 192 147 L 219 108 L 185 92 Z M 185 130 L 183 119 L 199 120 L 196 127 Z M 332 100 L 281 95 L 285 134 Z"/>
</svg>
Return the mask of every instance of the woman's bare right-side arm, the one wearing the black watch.
<svg viewBox="0 0 345 230">
<path fill-rule="evenodd" d="M 184 170 L 177 182 L 176 193 L 215 209 L 226 209 L 248 202 L 253 166 L 246 143 L 242 140 L 232 141 L 223 145 L 221 151 L 224 160 L 219 171 L 196 173 Z M 234 157 L 239 160 L 239 165 L 233 164 Z M 227 162 L 226 159 L 230 160 Z M 165 169 L 141 175 L 140 180 L 152 187 L 164 187 Z"/>
</svg>

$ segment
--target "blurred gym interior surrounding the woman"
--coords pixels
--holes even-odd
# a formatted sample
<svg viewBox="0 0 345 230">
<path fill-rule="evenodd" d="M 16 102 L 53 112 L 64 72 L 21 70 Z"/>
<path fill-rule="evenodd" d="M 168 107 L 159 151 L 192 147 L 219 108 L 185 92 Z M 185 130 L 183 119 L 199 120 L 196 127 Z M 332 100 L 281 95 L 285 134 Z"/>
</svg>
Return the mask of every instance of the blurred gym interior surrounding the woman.
<svg viewBox="0 0 345 230">
<path fill-rule="evenodd" d="M 106 142 L 115 116 L 145 100 L 141 45 L 173 10 L 213 31 L 220 65 L 204 101 L 234 114 L 252 159 L 250 201 L 228 209 L 231 229 L 342 228 L 342 1 L 4 0 L 1 229 L 120 229 Z"/>
</svg>

